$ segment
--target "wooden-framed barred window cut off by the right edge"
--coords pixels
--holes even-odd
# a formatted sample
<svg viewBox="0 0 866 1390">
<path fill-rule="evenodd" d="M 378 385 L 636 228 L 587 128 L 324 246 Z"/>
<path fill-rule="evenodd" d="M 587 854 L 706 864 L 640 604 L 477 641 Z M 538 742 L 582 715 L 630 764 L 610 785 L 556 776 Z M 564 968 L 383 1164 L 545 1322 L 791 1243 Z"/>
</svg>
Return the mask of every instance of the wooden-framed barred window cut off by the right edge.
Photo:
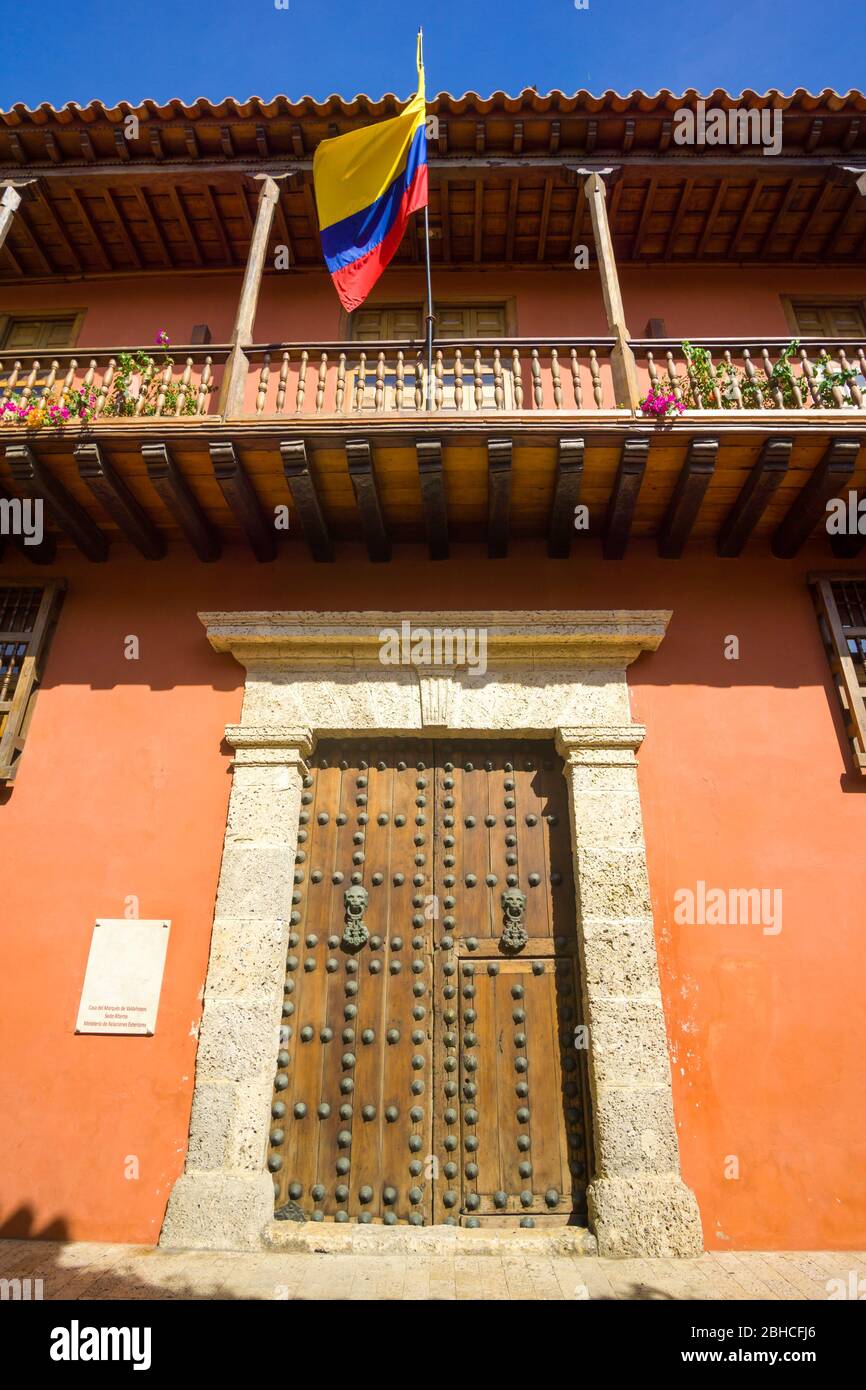
<svg viewBox="0 0 866 1390">
<path fill-rule="evenodd" d="M 853 760 L 866 776 L 866 574 L 816 574 L 810 582 Z"/>
</svg>

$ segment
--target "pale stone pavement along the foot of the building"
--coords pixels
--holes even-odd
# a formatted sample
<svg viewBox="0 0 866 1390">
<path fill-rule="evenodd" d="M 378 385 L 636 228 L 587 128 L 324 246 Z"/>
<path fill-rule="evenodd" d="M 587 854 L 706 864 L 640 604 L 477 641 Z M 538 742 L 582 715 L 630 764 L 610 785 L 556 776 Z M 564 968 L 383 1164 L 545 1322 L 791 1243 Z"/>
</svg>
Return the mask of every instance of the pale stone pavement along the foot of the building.
<svg viewBox="0 0 866 1390">
<path fill-rule="evenodd" d="M 42 1279 L 46 1300 L 817 1300 L 866 1295 L 866 1252 L 751 1251 L 696 1259 L 599 1259 L 542 1241 L 474 1254 L 161 1251 L 149 1245 L 0 1241 L 0 1279 Z M 834 1286 L 831 1280 L 841 1283 Z M 858 1283 L 862 1280 L 862 1283 Z M 26 1286 L 25 1286 L 26 1289 Z M 31 1283 L 31 1297 L 38 1286 Z M 14 1286 L 3 1297 L 14 1297 Z"/>
</svg>

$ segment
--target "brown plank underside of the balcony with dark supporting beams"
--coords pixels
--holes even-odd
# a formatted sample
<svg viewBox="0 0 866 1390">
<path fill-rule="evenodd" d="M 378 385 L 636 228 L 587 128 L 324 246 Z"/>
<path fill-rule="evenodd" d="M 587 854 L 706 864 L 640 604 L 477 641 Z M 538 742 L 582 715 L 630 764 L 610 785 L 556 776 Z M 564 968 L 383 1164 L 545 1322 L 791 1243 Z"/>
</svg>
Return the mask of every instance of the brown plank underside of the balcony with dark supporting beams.
<svg viewBox="0 0 866 1390">
<path fill-rule="evenodd" d="M 158 441 L 142 430 L 110 428 L 75 448 L 70 441 L 7 443 L 0 496 L 43 498 L 42 548 L 8 541 L 6 564 L 50 562 L 74 545 L 93 562 L 126 541 L 147 559 L 168 542 L 217 560 L 242 543 L 259 562 L 282 550 L 309 550 L 329 562 L 361 542 L 371 562 L 388 562 L 395 543 L 427 543 L 445 559 L 452 542 L 487 541 L 491 559 L 512 541 L 542 538 L 567 559 L 592 546 L 621 557 L 631 539 L 655 541 L 678 559 L 705 543 L 737 556 L 746 545 L 791 557 L 822 531 L 826 502 L 866 489 L 866 450 L 856 428 L 745 423 L 717 431 L 670 432 L 632 424 L 571 428 L 567 434 L 498 430 L 375 428 L 303 435 L 272 425 L 246 428 L 178 424 Z M 588 530 L 575 530 L 575 507 Z M 288 507 L 289 525 L 274 525 Z M 862 537 L 838 541 L 853 556 Z"/>
</svg>

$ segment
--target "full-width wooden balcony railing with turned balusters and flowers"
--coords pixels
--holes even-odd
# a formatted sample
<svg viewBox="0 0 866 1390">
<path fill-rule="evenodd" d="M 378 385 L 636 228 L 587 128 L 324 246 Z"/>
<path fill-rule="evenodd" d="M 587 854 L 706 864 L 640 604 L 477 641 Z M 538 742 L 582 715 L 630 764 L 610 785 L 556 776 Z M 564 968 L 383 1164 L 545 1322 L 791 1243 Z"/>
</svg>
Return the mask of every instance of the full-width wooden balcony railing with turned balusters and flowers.
<svg viewBox="0 0 866 1390">
<path fill-rule="evenodd" d="M 442 417 L 550 413 L 592 417 L 616 400 L 612 338 L 439 339 L 432 410 Z M 866 410 L 866 345 L 851 339 L 632 339 L 641 395 L 673 391 L 685 413 Z M 140 349 L 153 368 L 129 371 L 139 349 L 21 353 L 0 360 L 6 400 L 93 398 L 95 421 L 215 417 L 229 348 Z M 121 353 L 125 354 L 121 357 Z M 246 349 L 243 418 L 427 413 L 427 354 L 417 342 L 268 343 Z M 17 418 L 4 414 L 4 430 Z M 642 417 L 639 417 L 642 418 Z M 74 424 L 75 421 L 70 421 Z"/>
</svg>

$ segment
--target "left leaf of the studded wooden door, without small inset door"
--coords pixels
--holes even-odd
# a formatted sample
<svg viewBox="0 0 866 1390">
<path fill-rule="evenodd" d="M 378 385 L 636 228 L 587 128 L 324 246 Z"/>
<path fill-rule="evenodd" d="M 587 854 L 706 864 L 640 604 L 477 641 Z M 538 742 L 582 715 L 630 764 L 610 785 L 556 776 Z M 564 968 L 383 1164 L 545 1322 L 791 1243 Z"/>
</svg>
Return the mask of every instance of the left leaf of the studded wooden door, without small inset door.
<svg viewBox="0 0 866 1390">
<path fill-rule="evenodd" d="M 289 1218 L 430 1222 L 430 762 L 420 742 L 322 742 L 304 778 L 270 1144 Z M 342 941 L 353 881 L 359 949 Z"/>
</svg>

